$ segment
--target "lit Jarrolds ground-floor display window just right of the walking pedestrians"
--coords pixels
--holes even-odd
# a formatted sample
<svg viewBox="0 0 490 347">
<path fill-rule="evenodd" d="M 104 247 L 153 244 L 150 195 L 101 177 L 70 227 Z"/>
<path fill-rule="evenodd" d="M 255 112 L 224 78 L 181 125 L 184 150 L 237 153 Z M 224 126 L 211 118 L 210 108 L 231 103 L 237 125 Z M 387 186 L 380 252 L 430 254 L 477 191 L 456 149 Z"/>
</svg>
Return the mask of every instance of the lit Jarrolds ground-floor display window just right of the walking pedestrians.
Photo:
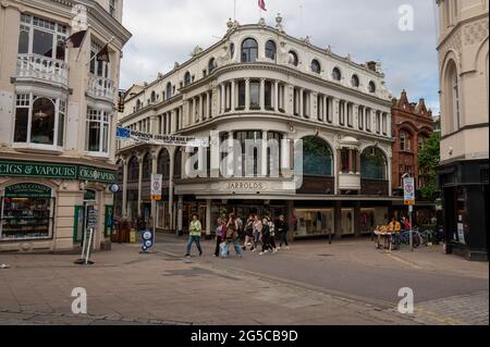
<svg viewBox="0 0 490 347">
<path fill-rule="evenodd" d="M 318 236 L 334 233 L 333 209 L 295 209 L 295 236 Z"/>
</svg>

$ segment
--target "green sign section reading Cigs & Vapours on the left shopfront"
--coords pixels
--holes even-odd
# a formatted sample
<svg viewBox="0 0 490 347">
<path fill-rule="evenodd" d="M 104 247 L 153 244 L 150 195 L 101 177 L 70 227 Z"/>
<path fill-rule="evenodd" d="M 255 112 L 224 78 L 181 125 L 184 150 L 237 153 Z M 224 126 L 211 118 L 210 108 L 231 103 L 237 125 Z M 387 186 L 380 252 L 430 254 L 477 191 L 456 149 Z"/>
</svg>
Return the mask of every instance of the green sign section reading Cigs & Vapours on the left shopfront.
<svg viewBox="0 0 490 347">
<path fill-rule="evenodd" d="M 76 179 L 76 165 L 0 162 L 0 176 Z"/>
</svg>

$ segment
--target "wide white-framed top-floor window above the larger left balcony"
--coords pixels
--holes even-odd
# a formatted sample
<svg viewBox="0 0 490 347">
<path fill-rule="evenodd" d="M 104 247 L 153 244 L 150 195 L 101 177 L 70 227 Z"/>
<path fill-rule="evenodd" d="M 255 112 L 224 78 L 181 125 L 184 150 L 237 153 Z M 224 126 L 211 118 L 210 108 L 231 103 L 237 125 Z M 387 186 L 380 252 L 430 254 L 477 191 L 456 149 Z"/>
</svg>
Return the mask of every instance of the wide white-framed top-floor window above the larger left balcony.
<svg viewBox="0 0 490 347">
<path fill-rule="evenodd" d="M 21 14 L 19 54 L 37 54 L 65 61 L 65 25 Z"/>
</svg>

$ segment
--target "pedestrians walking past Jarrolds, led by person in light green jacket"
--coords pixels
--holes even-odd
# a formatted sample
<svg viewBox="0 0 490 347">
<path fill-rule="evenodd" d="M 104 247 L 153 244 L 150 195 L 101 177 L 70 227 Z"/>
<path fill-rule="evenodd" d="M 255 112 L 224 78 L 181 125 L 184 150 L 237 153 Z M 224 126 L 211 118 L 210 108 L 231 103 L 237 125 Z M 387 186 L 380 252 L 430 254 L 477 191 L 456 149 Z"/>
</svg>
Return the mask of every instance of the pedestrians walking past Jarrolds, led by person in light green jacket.
<svg viewBox="0 0 490 347">
<path fill-rule="evenodd" d="M 215 257 L 228 258 L 232 246 L 238 258 L 242 258 L 243 252 L 247 250 L 257 252 L 260 246 L 260 256 L 269 252 L 277 253 L 283 247 L 289 250 L 287 232 L 289 225 L 284 215 L 280 215 L 277 221 L 273 221 L 269 216 L 260 219 L 257 214 L 250 214 L 244 223 L 242 219 L 232 213 L 228 219 L 220 218 L 218 220 Z M 193 221 L 189 224 L 189 240 L 186 257 L 191 257 L 194 243 L 197 246 L 199 256 L 203 256 L 203 248 L 200 246 L 201 233 L 203 227 L 198 215 L 194 214 Z M 279 247 L 275 243 L 275 237 L 280 239 Z"/>
</svg>

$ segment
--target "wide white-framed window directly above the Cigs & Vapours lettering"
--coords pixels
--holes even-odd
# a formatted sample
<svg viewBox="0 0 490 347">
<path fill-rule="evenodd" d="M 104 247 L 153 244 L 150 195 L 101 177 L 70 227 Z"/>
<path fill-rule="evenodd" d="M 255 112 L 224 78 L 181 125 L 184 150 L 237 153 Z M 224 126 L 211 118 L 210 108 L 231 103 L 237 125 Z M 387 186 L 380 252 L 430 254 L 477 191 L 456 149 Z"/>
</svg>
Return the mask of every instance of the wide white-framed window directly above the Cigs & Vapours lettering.
<svg viewBox="0 0 490 347">
<path fill-rule="evenodd" d="M 15 103 L 15 144 L 64 145 L 66 101 L 60 98 L 20 94 Z"/>
</svg>

